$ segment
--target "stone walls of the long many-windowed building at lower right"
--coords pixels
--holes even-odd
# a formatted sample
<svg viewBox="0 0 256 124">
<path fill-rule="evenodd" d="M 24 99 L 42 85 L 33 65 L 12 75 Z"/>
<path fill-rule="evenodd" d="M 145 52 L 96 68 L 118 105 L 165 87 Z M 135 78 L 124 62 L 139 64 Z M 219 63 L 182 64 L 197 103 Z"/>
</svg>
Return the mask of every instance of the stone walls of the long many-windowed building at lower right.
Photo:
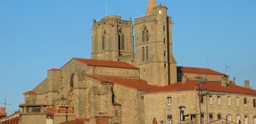
<svg viewBox="0 0 256 124">
<path fill-rule="evenodd" d="M 206 92 L 208 91 L 203 91 L 203 93 Z M 209 94 L 213 95 L 204 96 L 202 100 L 203 102 L 201 103 L 201 113 L 204 115 L 202 121 L 204 123 L 211 123 L 213 120 L 219 120 L 222 118 L 227 118 L 227 120 L 229 120 L 228 116 L 231 117 L 230 121 L 235 123 L 238 123 L 236 119 L 237 117 L 239 117 L 241 123 L 245 123 L 245 117 L 248 117 L 247 123 L 254 123 L 256 117 L 256 106 L 253 105 L 253 100 L 256 99 L 256 95 L 221 93 L 213 91 L 209 92 Z M 172 98 L 172 104 L 167 105 L 168 97 Z M 228 104 L 228 98 L 230 98 L 230 104 Z M 244 104 L 245 98 L 246 104 Z M 180 113 L 178 106 L 186 106 L 186 108 L 183 109 L 185 112 L 184 115 L 194 115 L 200 113 L 199 104 L 197 90 L 145 93 L 145 123 L 151 123 L 153 117 L 156 117 L 158 122 L 161 120 L 167 122 L 168 115 L 172 115 L 172 123 L 179 123 Z M 218 118 L 218 115 L 220 118 Z M 194 120 L 199 123 L 200 118 L 196 117 Z"/>
</svg>

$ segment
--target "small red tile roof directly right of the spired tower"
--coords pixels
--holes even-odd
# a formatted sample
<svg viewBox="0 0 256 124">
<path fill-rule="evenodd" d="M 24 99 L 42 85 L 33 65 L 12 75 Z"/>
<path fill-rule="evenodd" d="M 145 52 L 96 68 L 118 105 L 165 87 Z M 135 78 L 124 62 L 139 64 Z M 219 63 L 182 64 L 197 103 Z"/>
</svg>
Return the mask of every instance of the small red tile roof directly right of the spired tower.
<svg viewBox="0 0 256 124">
<path fill-rule="evenodd" d="M 203 69 L 203 68 L 194 68 L 194 67 L 184 67 L 184 66 L 178 66 L 177 67 L 178 72 L 183 73 L 199 73 L 199 74 L 218 74 L 218 75 L 224 75 L 218 71 L 214 71 L 212 69 Z"/>
</svg>

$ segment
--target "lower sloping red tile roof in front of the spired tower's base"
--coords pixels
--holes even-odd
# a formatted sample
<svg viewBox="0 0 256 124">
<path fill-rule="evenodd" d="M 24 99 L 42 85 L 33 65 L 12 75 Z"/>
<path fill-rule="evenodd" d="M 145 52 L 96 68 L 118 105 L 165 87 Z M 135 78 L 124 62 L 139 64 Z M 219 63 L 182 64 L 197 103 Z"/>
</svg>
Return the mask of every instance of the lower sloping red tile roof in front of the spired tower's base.
<svg viewBox="0 0 256 124">
<path fill-rule="evenodd" d="M 113 82 L 114 84 L 123 85 L 128 88 L 135 88 L 138 90 L 149 90 L 156 88 L 154 85 L 149 85 L 145 80 L 139 78 L 127 78 L 127 77 L 104 77 L 104 76 L 93 76 L 87 75 L 87 77 L 97 80 L 99 82 Z"/>
</svg>

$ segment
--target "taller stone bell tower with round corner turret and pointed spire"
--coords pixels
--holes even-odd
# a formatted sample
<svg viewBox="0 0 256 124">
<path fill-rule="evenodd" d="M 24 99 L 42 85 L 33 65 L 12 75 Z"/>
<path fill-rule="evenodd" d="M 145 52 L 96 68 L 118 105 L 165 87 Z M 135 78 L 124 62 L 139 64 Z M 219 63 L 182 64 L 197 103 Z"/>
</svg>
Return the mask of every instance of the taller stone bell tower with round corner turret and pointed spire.
<svg viewBox="0 0 256 124">
<path fill-rule="evenodd" d="M 172 18 L 167 7 L 149 0 L 145 17 L 136 18 L 136 63 L 140 77 L 152 85 L 177 82 L 177 63 L 172 54 Z"/>
</svg>

